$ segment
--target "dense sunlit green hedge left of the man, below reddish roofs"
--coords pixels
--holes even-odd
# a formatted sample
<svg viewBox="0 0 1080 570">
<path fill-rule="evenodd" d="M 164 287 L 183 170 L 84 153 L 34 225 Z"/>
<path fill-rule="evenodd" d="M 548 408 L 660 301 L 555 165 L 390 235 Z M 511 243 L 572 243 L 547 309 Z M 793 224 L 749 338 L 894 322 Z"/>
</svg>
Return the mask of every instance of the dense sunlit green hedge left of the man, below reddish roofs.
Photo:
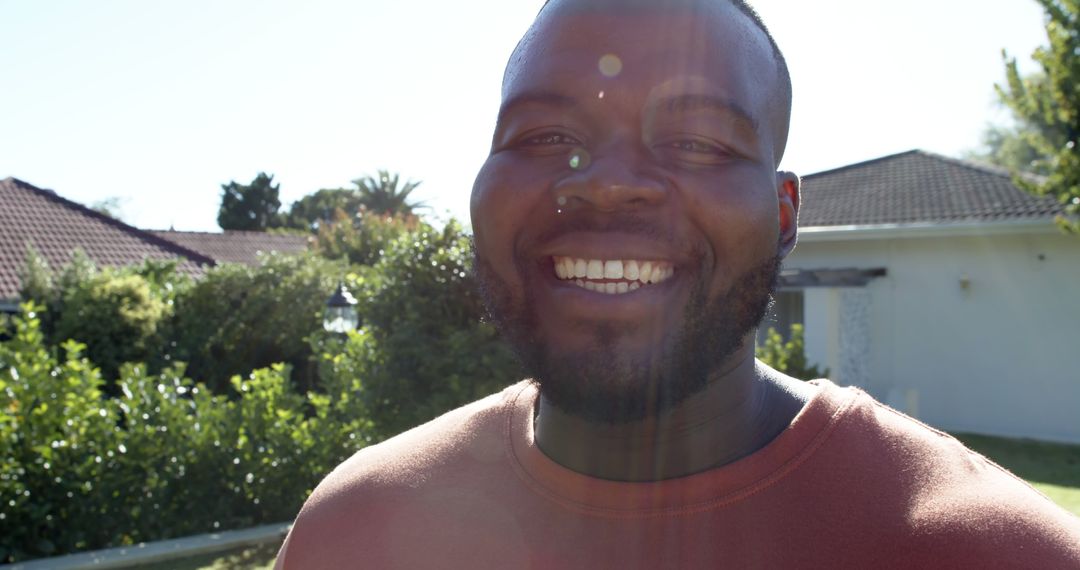
<svg viewBox="0 0 1080 570">
<path fill-rule="evenodd" d="M 287 520 L 356 449 L 519 378 L 456 222 L 320 231 L 322 256 L 197 282 L 31 258 L 41 304 L 0 335 L 0 561 Z M 342 277 L 362 328 L 330 336 Z"/>
</svg>

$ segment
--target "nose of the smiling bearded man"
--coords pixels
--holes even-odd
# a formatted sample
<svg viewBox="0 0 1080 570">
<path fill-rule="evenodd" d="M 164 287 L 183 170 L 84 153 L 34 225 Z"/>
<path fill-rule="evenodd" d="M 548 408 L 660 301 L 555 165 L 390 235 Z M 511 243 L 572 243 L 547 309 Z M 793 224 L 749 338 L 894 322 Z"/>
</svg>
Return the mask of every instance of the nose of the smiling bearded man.
<svg viewBox="0 0 1080 570">
<path fill-rule="evenodd" d="M 571 173 L 554 187 L 562 209 L 591 207 L 600 212 L 629 211 L 663 201 L 666 191 L 661 178 L 646 172 L 648 159 L 633 149 L 611 149 L 590 157 L 584 150 L 571 152 Z"/>
</svg>

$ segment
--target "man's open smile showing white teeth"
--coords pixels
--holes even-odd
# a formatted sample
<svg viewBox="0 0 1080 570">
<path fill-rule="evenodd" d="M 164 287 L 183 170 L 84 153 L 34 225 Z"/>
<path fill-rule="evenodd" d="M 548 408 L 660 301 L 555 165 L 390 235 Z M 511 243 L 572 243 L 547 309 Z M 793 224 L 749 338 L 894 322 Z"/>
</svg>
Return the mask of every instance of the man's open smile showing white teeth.
<svg viewBox="0 0 1080 570">
<path fill-rule="evenodd" d="M 608 295 L 635 291 L 667 281 L 675 273 L 670 261 L 637 259 L 583 259 L 555 256 L 555 276 L 583 289 Z"/>
</svg>

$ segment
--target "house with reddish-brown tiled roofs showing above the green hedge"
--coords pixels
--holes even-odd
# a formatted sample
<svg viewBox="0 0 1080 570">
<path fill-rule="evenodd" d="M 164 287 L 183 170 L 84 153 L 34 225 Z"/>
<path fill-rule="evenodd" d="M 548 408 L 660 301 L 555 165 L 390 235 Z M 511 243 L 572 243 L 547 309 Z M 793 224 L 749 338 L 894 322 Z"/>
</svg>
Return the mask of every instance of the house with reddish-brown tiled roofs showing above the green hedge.
<svg viewBox="0 0 1080 570">
<path fill-rule="evenodd" d="M 224 262 L 254 264 L 259 252 L 299 253 L 303 235 L 145 231 L 17 178 L 0 180 L 0 311 L 18 309 L 19 272 L 32 246 L 50 267 L 82 249 L 98 267 L 176 259 L 192 276 Z"/>
</svg>

